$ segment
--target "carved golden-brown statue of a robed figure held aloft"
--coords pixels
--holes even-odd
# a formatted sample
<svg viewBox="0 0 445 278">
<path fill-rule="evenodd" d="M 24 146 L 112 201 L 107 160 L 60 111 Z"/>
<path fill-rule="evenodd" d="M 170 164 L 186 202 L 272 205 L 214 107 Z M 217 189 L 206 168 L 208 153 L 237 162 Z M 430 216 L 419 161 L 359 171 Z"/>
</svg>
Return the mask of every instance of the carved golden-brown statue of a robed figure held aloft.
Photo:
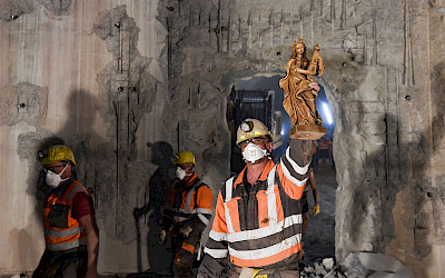
<svg viewBox="0 0 445 278">
<path fill-rule="evenodd" d="M 322 76 L 325 70 L 319 47 L 314 47 L 313 58 L 306 56 L 306 44 L 300 38 L 291 43 L 291 54 L 286 64 L 286 77 L 279 80 L 285 90 L 283 107 L 289 115 L 293 129 L 289 137 L 303 140 L 317 140 L 326 133 L 322 126 L 322 117 L 316 108 L 316 90 L 309 86 L 312 76 Z"/>
</svg>

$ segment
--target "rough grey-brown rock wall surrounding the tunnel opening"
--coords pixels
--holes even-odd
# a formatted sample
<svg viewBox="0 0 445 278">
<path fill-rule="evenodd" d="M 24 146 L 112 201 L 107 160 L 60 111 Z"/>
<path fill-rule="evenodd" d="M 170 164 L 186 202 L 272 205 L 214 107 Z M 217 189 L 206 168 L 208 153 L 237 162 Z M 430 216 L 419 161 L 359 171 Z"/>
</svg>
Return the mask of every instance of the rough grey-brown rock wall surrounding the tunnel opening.
<svg viewBox="0 0 445 278">
<path fill-rule="evenodd" d="M 131 212 L 152 200 L 150 178 L 168 172 L 166 153 L 192 151 L 216 196 L 229 176 L 231 86 L 238 78 L 284 76 L 296 37 L 309 50 L 319 43 L 326 63 L 317 80 L 336 121 L 337 260 L 350 251 L 385 252 L 418 277 L 445 271 L 445 3 L 0 6 L 0 203 L 9 212 L 1 217 L 9 236 L 0 239 L 8 250 L 0 272 L 37 266 L 44 188 L 36 153 L 53 141 L 73 149 L 79 180 L 95 190 L 99 271 L 148 268 L 146 257 L 137 258 L 146 254 L 147 219 L 136 226 Z"/>
</svg>

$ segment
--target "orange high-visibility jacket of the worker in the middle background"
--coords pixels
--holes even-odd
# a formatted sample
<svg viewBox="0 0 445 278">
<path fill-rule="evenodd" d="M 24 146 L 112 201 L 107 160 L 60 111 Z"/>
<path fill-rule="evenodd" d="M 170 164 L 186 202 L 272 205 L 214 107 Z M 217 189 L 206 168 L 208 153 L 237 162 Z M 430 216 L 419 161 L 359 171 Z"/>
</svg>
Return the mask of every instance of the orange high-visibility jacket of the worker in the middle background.
<svg viewBox="0 0 445 278">
<path fill-rule="evenodd" d="M 197 216 L 199 220 L 207 226 L 212 211 L 212 195 L 210 188 L 200 181 L 196 172 L 188 180 L 187 187 L 190 187 L 190 189 L 178 192 L 181 193 L 181 203 L 179 208 L 174 208 L 179 212 L 174 216 L 174 220 L 176 222 L 181 222 Z"/>
</svg>

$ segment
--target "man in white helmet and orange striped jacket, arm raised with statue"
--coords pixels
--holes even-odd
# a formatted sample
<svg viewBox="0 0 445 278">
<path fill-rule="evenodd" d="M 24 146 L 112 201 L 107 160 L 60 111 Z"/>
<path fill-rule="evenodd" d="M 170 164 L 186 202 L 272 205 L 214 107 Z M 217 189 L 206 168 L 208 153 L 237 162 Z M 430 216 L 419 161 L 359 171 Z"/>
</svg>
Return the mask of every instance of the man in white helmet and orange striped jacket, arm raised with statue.
<svg viewBox="0 0 445 278">
<path fill-rule="evenodd" d="M 317 83 L 310 85 L 319 90 Z M 301 195 L 310 173 L 312 140 L 290 139 L 275 165 L 271 133 L 256 119 L 237 130 L 244 170 L 219 191 L 215 219 L 198 277 L 298 277 L 301 250 Z"/>
</svg>

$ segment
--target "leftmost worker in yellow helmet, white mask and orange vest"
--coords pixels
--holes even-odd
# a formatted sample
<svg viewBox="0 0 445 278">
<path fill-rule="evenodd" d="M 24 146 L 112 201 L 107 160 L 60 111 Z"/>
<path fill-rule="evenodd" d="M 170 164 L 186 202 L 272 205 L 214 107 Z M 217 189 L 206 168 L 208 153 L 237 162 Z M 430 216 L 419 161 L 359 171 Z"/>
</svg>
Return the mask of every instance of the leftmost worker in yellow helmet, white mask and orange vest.
<svg viewBox="0 0 445 278">
<path fill-rule="evenodd" d="M 39 157 L 49 191 L 43 207 L 46 249 L 32 277 L 97 277 L 99 230 L 92 196 L 73 178 L 75 156 L 67 146 L 55 145 Z"/>
</svg>

